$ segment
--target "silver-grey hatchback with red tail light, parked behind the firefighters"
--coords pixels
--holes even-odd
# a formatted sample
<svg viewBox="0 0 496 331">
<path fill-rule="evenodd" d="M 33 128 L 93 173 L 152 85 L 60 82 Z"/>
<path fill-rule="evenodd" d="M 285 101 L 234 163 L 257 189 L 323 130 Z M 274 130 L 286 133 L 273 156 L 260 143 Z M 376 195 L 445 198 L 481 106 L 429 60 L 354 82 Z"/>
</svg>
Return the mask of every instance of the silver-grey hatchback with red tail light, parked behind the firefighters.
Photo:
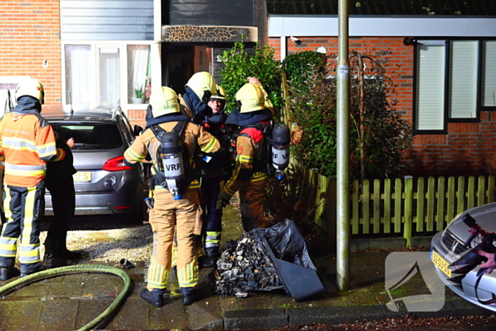
<svg viewBox="0 0 496 331">
<path fill-rule="evenodd" d="M 64 139 L 74 138 L 76 215 L 123 214 L 142 221 L 145 179 L 142 164 L 124 164 L 124 152 L 139 134 L 120 111 L 43 112 L 43 117 Z M 50 192 L 45 215 L 53 215 Z"/>
</svg>

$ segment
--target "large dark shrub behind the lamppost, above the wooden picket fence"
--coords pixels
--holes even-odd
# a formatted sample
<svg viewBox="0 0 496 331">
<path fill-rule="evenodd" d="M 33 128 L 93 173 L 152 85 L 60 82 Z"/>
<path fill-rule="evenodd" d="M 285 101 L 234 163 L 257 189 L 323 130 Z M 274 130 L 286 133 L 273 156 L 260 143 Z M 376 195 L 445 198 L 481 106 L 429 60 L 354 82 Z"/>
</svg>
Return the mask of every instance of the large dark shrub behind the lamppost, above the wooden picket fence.
<svg viewBox="0 0 496 331">
<path fill-rule="evenodd" d="M 308 63 L 308 55 L 290 55 L 286 59 Z M 412 128 L 395 111 L 391 80 L 386 76 L 387 52 L 360 55 L 366 62 L 363 69 L 363 108 L 360 113 L 359 53 L 350 53 L 350 166 L 353 178 L 360 178 L 361 154 L 364 156 L 365 178 L 399 176 L 405 170 L 405 150 L 412 140 Z M 317 56 L 316 56 L 317 57 Z M 284 61 L 286 62 L 286 60 Z M 291 120 L 300 126 L 302 137 L 293 147 L 296 157 L 308 168 L 319 169 L 328 177 L 337 171 L 337 63 L 314 66 L 306 73 L 287 72 L 291 96 Z M 284 64 L 286 70 L 293 67 Z M 299 68 L 299 67 L 296 67 Z M 360 138 L 363 138 L 361 145 Z"/>
</svg>

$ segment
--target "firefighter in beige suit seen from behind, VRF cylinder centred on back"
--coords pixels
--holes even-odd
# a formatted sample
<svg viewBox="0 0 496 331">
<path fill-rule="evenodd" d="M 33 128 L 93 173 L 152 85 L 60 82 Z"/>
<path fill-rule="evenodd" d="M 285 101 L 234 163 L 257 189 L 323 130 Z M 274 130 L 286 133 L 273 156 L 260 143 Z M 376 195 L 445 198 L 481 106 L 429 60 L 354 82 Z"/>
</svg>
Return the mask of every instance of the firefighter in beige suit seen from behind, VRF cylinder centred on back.
<svg viewBox="0 0 496 331">
<path fill-rule="evenodd" d="M 174 230 L 178 242 L 177 274 L 184 305 L 198 301 L 198 261 L 194 235 L 201 232 L 198 174 L 195 155 L 212 155 L 220 148 L 217 139 L 201 125 L 191 123 L 181 113 L 174 90 L 161 86 L 150 96 L 152 118 L 133 145 L 125 151 L 129 166 L 152 157 L 154 178 L 153 217 L 154 251 L 148 269 L 147 287 L 141 297 L 155 305 L 164 305 L 164 293 L 171 269 Z"/>
</svg>

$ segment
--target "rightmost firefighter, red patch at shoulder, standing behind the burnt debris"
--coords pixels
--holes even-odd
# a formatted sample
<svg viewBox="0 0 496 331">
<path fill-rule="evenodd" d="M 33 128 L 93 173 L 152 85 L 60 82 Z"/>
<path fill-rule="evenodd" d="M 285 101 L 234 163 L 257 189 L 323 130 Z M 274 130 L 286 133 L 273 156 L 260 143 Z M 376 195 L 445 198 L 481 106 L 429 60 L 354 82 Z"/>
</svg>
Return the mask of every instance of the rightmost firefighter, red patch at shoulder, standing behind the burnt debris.
<svg viewBox="0 0 496 331">
<path fill-rule="evenodd" d="M 221 191 L 222 206 L 239 191 L 239 203 L 244 231 L 265 228 L 264 196 L 267 181 L 266 163 L 262 157 L 264 128 L 272 125 L 272 112 L 258 79 L 244 84 L 236 93 L 237 108 L 230 113 L 225 125 L 237 125 L 233 138 L 235 170 Z"/>
</svg>

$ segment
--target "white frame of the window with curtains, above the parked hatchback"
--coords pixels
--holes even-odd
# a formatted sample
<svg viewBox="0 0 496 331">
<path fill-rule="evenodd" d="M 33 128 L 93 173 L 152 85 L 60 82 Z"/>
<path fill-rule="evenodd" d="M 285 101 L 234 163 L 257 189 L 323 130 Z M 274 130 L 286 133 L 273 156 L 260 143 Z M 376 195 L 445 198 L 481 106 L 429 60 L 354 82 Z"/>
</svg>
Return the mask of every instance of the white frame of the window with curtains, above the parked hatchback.
<svg viewBox="0 0 496 331">
<path fill-rule="evenodd" d="M 128 113 L 128 110 L 146 110 L 147 104 L 133 104 L 128 103 L 128 45 L 150 45 L 150 57 L 152 61 L 152 89 L 154 86 L 162 86 L 162 64 L 160 61 L 160 45 L 159 41 L 150 40 L 63 40 L 60 47 L 62 59 L 62 105 L 65 111 L 69 111 L 72 105 L 67 103 L 67 89 L 66 89 L 66 59 L 65 59 L 65 46 L 66 45 L 90 45 L 91 57 L 90 63 L 94 73 L 94 84 L 92 84 L 91 104 L 96 107 L 98 105 L 98 49 L 102 47 L 119 47 L 120 48 L 120 107 L 123 111 Z M 77 111 L 77 109 L 74 109 Z"/>
</svg>

